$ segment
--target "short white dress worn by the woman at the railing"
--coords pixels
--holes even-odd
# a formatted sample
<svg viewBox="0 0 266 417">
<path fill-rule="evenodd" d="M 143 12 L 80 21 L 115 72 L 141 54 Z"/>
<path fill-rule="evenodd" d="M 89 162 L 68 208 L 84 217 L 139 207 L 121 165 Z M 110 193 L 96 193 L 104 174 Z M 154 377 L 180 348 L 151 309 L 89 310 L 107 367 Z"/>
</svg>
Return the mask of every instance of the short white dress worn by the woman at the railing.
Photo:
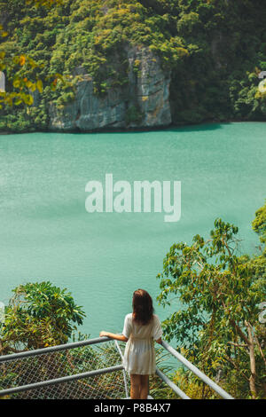
<svg viewBox="0 0 266 417">
<path fill-rule="evenodd" d="M 145 326 L 134 322 L 132 313 L 125 317 L 122 334 L 129 340 L 124 352 L 123 366 L 129 374 L 155 374 L 155 350 L 153 340 L 162 335 L 160 319 L 153 319 Z"/>
</svg>

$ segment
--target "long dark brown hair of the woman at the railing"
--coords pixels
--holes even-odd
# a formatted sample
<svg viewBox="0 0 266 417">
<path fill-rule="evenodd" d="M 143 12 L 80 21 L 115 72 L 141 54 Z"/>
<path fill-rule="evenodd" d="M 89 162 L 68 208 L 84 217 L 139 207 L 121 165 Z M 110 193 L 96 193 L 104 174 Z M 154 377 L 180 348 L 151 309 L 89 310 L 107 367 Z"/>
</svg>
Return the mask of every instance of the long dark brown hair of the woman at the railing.
<svg viewBox="0 0 266 417">
<path fill-rule="evenodd" d="M 132 300 L 133 320 L 140 325 L 147 325 L 153 319 L 153 299 L 145 289 L 137 289 Z"/>
</svg>

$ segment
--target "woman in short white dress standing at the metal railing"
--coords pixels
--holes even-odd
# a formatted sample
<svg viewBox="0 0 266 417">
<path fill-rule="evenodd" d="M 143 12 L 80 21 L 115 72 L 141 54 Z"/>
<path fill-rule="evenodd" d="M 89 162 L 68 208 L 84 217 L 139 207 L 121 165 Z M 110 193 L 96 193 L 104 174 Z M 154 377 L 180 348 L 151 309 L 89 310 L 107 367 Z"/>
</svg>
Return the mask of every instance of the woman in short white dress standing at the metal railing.
<svg viewBox="0 0 266 417">
<path fill-rule="evenodd" d="M 130 375 L 131 399 L 146 399 L 149 393 L 149 374 L 155 374 L 153 340 L 161 343 L 160 319 L 153 314 L 153 300 L 144 289 L 133 294 L 133 313 L 125 317 L 122 334 L 101 332 L 99 335 L 127 342 L 123 366 Z"/>
</svg>

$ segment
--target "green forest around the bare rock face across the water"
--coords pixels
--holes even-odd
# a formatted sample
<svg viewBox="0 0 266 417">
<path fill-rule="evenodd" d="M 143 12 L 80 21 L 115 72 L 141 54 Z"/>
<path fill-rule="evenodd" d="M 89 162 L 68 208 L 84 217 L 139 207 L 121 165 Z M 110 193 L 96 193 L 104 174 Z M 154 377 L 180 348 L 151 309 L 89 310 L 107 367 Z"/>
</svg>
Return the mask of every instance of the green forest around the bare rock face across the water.
<svg viewBox="0 0 266 417">
<path fill-rule="evenodd" d="M 25 107 L 20 100 L 15 107 L 4 106 L 1 130 L 47 129 L 49 102 L 60 107 L 74 98 L 76 67 L 85 67 L 93 77 L 96 94 L 127 83 L 129 44 L 148 46 L 171 70 L 175 124 L 265 120 L 266 94 L 257 88 L 258 74 L 266 70 L 263 0 L 29 3 L 0 1 L 0 24 L 8 34 L 0 53 L 29 56 L 36 63 L 9 68 L 8 89 L 20 90 L 36 75 L 44 89 L 35 90 L 35 106 Z M 51 89 L 56 74 L 65 78 L 56 77 Z M 22 86 L 13 83 L 14 75 L 24 77 Z"/>
</svg>

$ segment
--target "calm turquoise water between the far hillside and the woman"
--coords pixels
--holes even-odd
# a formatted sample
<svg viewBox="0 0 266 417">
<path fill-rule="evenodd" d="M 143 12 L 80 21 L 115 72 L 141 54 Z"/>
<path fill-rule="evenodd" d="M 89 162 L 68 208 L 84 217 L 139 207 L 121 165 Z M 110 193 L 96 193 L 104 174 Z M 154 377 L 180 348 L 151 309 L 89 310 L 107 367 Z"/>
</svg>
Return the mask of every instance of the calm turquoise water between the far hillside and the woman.
<svg viewBox="0 0 266 417">
<path fill-rule="evenodd" d="M 217 216 L 239 226 L 241 248 L 266 184 L 266 123 L 210 124 L 134 133 L 0 136 L 0 301 L 20 283 L 67 287 L 87 318 L 82 331 L 121 332 L 137 287 L 159 295 L 156 275 L 176 241 L 204 236 Z M 90 180 L 182 182 L 182 215 L 85 210 Z M 174 311 L 178 301 L 168 311 Z M 156 312 L 165 311 L 155 303 Z"/>
</svg>

